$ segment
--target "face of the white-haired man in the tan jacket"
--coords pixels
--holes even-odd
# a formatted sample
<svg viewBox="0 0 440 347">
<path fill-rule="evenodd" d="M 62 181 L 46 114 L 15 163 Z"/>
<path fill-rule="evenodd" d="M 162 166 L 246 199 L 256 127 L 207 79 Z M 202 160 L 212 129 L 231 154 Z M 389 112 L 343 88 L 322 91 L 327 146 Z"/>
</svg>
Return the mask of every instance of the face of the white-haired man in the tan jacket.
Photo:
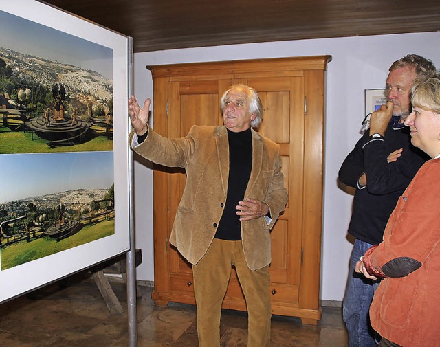
<svg viewBox="0 0 440 347">
<path fill-rule="evenodd" d="M 223 123 L 234 133 L 250 128 L 250 122 L 256 115 L 249 112 L 249 96 L 246 89 L 233 88 L 225 97 Z"/>
</svg>

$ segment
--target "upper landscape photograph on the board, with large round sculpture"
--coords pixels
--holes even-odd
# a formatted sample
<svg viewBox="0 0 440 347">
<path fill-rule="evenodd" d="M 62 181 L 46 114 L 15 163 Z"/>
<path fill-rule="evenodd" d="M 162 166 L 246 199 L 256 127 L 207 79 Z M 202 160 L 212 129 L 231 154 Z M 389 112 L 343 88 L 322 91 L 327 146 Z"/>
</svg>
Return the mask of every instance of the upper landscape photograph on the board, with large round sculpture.
<svg viewBox="0 0 440 347">
<path fill-rule="evenodd" d="M 0 10 L 0 154 L 113 150 L 113 49 Z"/>
</svg>

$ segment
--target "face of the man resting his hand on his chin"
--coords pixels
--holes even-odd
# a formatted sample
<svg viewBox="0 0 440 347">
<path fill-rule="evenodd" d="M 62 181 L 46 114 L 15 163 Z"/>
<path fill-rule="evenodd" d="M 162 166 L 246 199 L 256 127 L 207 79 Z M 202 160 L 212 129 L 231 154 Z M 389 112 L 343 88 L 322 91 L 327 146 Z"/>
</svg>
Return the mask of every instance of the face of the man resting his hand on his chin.
<svg viewBox="0 0 440 347">
<path fill-rule="evenodd" d="M 404 66 L 390 71 L 386 78 L 388 100 L 394 104 L 393 115 L 399 115 L 405 119 L 411 111 L 410 93 L 412 81 L 417 78 L 415 69 Z"/>
</svg>

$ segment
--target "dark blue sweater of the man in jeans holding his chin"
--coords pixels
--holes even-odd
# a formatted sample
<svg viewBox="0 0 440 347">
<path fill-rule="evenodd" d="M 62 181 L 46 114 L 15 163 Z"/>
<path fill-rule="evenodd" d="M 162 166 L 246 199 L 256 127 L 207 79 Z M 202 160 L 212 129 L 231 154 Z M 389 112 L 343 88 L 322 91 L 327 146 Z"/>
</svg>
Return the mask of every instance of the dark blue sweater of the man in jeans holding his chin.
<svg viewBox="0 0 440 347">
<path fill-rule="evenodd" d="M 393 128 L 393 124 L 393 120 L 388 124 L 385 140 L 369 141 L 370 133 L 366 131 L 339 170 L 340 181 L 356 187 L 349 234 L 372 245 L 382 241 L 397 200 L 428 159 L 410 144 L 409 128 Z M 386 157 L 399 148 L 404 149 L 401 157 L 388 164 Z M 358 179 L 364 172 L 367 185 L 360 188 Z"/>
</svg>

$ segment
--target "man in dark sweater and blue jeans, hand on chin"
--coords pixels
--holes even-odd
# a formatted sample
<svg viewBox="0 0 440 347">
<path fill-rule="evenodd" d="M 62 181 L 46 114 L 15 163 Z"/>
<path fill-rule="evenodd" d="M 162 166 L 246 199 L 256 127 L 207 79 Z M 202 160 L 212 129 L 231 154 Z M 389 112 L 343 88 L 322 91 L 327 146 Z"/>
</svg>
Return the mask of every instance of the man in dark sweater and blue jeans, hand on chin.
<svg viewBox="0 0 440 347">
<path fill-rule="evenodd" d="M 369 322 L 369 307 L 379 282 L 360 276 L 354 268 L 367 249 L 382 241 L 397 200 L 428 159 L 410 144 L 409 128 L 404 126 L 404 120 L 410 114 L 412 81 L 435 71 L 430 60 L 415 54 L 408 54 L 391 65 L 386 79 L 388 102 L 371 115 L 370 129 L 339 170 L 340 181 L 356 188 L 349 225 L 355 244 L 343 302 L 349 347 L 377 345 Z M 391 119 L 387 109 L 392 109 Z"/>
</svg>

